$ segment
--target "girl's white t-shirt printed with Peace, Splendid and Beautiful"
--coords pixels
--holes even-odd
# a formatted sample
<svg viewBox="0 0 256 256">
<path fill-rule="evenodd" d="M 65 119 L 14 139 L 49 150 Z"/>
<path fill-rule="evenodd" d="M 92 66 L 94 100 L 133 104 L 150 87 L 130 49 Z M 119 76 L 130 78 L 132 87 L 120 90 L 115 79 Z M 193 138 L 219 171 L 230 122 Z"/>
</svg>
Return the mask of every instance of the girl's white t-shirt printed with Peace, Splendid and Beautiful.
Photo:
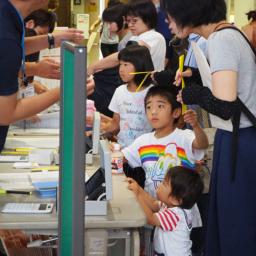
<svg viewBox="0 0 256 256">
<path fill-rule="evenodd" d="M 145 90 L 129 92 L 128 84 L 123 84 L 116 88 L 113 98 L 109 104 L 109 109 L 120 115 L 120 132 L 117 135 L 117 143 L 123 148 L 130 146 L 140 135 L 151 132 L 153 127 L 148 123 L 144 98 L 150 84 Z"/>
</svg>

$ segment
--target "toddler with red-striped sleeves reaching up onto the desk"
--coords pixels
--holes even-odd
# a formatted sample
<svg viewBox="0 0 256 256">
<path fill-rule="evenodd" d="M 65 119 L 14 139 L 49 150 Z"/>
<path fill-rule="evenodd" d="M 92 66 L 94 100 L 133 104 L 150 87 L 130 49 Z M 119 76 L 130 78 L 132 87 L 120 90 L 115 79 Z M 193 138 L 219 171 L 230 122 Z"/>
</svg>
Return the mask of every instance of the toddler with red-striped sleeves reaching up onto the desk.
<svg viewBox="0 0 256 256">
<path fill-rule="evenodd" d="M 124 181 L 130 183 L 127 188 L 137 196 L 148 224 L 156 226 L 153 240 L 155 255 L 192 255 L 192 242 L 189 240 L 192 228 L 190 209 L 204 190 L 204 182 L 199 173 L 184 166 L 170 168 L 163 182 L 158 185 L 158 201 L 149 196 L 135 180 L 126 178 Z"/>
</svg>

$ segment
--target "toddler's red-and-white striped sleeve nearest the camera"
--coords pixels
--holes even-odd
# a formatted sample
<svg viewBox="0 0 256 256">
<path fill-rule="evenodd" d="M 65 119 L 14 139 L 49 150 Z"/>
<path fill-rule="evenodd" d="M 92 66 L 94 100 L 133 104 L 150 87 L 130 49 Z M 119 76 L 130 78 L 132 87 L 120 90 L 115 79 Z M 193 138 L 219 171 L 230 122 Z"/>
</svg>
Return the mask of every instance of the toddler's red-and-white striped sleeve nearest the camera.
<svg viewBox="0 0 256 256">
<path fill-rule="evenodd" d="M 156 216 L 158 217 L 158 220 L 161 223 L 161 228 L 164 231 L 172 231 L 174 228 L 176 228 L 180 220 L 178 215 L 175 212 L 173 212 L 170 208 L 161 212 L 156 212 Z"/>
</svg>

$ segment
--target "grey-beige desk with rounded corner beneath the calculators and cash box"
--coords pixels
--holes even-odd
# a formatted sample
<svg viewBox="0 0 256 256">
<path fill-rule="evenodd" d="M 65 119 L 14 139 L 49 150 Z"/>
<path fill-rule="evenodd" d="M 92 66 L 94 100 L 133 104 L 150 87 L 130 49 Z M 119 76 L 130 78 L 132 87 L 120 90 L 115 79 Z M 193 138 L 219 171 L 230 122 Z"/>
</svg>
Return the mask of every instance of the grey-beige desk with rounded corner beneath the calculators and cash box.
<svg viewBox="0 0 256 256">
<path fill-rule="evenodd" d="M 93 166 L 87 166 L 86 172 L 91 176 L 100 166 L 100 157 L 94 156 Z M 16 173 L 16 172 L 30 172 L 29 169 L 14 169 L 13 163 L 0 163 L 1 173 Z M 52 164 L 55 166 L 55 164 Z M 49 167 L 49 165 L 40 165 L 40 167 Z M 96 167 L 96 168 L 95 168 Z M 113 200 L 107 203 L 107 215 L 105 216 L 85 216 L 85 228 L 107 228 L 111 229 L 108 232 L 108 238 L 115 238 L 119 234 L 119 238 L 126 239 L 125 256 L 136 255 L 137 253 L 130 253 L 129 248 L 137 247 L 134 243 L 138 243 L 138 234 L 133 227 L 144 226 L 147 223 L 147 218 L 143 212 L 134 193 L 126 189 L 127 184 L 123 182 L 124 174 L 113 174 Z M 58 231 L 58 216 L 56 212 L 55 197 L 40 196 L 37 190 L 30 189 L 32 195 L 19 194 L 0 194 L 0 209 L 4 204 L 9 202 L 14 203 L 53 203 L 53 211 L 51 213 L 2 213 L 0 212 L 0 229 L 22 229 L 24 233 L 29 234 L 50 234 L 57 235 Z M 126 231 L 122 231 L 122 228 Z M 132 235 L 125 235 L 127 230 L 132 231 Z M 121 233 L 120 233 L 121 231 Z M 131 236 L 133 241 L 131 241 Z M 132 243 L 132 245 L 131 245 Z M 129 248 L 128 248 L 129 247 Z M 134 251 L 136 252 L 134 249 Z M 139 250 L 138 250 L 139 253 Z M 112 254 L 113 255 L 113 254 Z M 120 252 L 117 255 L 121 255 Z M 139 255 L 139 254 L 138 254 Z"/>
</svg>

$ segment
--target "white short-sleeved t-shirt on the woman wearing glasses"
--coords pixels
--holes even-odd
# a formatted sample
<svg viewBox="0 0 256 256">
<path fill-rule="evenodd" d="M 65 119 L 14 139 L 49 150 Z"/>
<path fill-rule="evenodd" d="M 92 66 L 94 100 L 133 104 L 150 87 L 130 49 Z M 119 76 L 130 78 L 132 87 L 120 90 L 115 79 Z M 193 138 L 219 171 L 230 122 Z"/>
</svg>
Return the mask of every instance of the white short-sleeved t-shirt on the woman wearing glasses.
<svg viewBox="0 0 256 256">
<path fill-rule="evenodd" d="M 166 52 L 166 43 L 164 36 L 151 29 L 139 36 L 132 36 L 130 41 L 143 41 L 151 47 L 150 55 L 155 70 L 164 70 L 164 59 Z"/>
</svg>

